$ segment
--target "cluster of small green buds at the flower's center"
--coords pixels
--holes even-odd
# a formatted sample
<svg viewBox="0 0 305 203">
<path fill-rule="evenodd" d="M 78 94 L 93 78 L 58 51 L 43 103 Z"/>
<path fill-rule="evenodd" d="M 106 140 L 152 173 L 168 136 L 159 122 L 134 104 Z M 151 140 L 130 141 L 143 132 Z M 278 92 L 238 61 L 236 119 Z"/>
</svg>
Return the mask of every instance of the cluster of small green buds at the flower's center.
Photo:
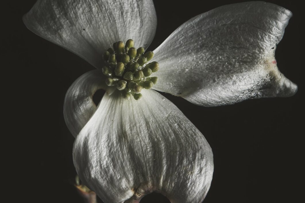
<svg viewBox="0 0 305 203">
<path fill-rule="evenodd" d="M 142 88 L 151 89 L 157 83 L 157 77 L 149 76 L 159 70 L 159 63 L 147 63 L 152 59 L 153 52 L 143 54 L 143 47 L 136 49 L 133 46 L 132 39 L 127 40 L 126 45 L 122 41 L 113 43 L 113 48 L 110 47 L 103 54 L 106 66 L 102 72 L 107 77 L 106 85 L 117 86 L 123 98 L 130 99 L 133 96 L 139 100 Z"/>
</svg>

